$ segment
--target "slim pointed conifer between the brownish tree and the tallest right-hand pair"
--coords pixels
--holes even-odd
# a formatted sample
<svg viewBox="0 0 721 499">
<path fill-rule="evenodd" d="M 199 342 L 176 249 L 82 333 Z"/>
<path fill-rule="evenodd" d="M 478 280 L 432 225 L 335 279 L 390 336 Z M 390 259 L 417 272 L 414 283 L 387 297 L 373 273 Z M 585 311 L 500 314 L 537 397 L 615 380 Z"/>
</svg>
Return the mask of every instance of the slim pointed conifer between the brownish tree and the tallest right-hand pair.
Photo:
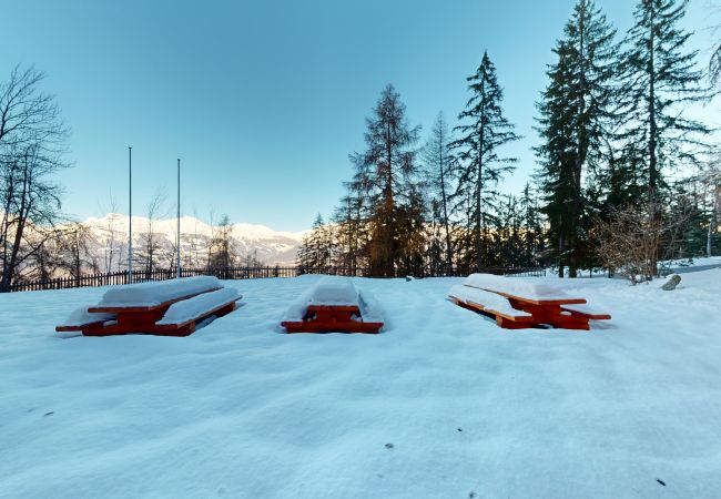
<svg viewBox="0 0 721 499">
<path fill-rule="evenodd" d="M 461 136 L 450 144 L 457 159 L 458 184 L 454 197 L 459 198 L 458 207 L 466 211 L 470 231 L 466 255 L 473 257 L 476 268 L 481 268 L 488 262 L 487 224 L 492 220 L 497 200 L 495 187 L 517 162 L 515 157 L 500 156 L 499 149 L 520 138 L 504 115 L 504 93 L 488 52 L 484 52 L 476 73 L 466 80 L 471 96 L 458 115 L 463 124 L 455 130 Z"/>
</svg>

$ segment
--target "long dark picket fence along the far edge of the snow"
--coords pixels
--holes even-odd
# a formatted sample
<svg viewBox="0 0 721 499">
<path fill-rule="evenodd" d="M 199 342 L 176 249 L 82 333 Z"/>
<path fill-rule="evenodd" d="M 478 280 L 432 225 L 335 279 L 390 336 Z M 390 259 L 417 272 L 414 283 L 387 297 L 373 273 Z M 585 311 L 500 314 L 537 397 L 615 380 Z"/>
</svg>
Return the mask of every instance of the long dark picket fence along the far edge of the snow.
<svg viewBox="0 0 721 499">
<path fill-rule="evenodd" d="M 545 276 L 546 269 L 542 267 L 489 267 L 479 271 L 456 269 L 454 275 L 468 275 L 471 272 L 483 272 L 496 275 L 514 276 Z M 238 279 L 262 279 L 272 277 L 297 277 L 304 274 L 324 274 L 342 276 L 367 276 L 365 268 L 345 268 L 345 267 L 231 267 L 231 268 L 182 268 L 181 277 L 193 277 L 197 275 L 212 275 L 219 279 L 238 281 Z M 441 277 L 448 276 L 444 273 L 425 272 L 423 277 Z M 165 281 L 175 278 L 175 269 L 153 269 L 153 271 L 133 271 L 133 283 L 144 283 L 148 281 Z M 53 279 L 21 281 L 11 284 L 4 292 L 26 292 L 42 289 L 68 289 L 74 287 L 100 287 L 116 286 L 129 284 L 128 271 L 110 272 L 105 274 L 88 274 L 78 277 L 61 277 Z"/>
</svg>

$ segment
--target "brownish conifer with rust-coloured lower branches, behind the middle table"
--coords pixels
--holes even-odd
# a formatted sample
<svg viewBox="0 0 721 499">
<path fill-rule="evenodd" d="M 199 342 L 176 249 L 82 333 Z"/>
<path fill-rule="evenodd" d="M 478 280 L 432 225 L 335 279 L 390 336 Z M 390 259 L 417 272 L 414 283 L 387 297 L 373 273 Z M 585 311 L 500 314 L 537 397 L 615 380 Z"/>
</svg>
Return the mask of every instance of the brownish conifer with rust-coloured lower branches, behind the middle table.
<svg viewBox="0 0 721 499">
<path fill-rule="evenodd" d="M 366 126 L 366 150 L 351 155 L 355 166 L 352 184 L 367 203 L 369 273 L 394 276 L 396 265 L 409 262 L 399 231 L 403 218 L 416 216 L 417 212 L 412 210 L 418 173 L 413 147 L 419 128 L 408 124 L 406 106 L 390 84 L 383 91 Z"/>
</svg>

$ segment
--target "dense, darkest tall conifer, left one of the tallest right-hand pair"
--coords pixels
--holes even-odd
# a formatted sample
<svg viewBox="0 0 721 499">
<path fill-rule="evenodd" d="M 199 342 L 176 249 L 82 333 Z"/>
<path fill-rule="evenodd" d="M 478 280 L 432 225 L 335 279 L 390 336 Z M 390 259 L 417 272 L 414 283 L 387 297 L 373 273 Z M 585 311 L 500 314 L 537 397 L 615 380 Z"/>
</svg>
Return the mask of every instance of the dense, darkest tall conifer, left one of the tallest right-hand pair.
<svg viewBox="0 0 721 499">
<path fill-rule="evenodd" d="M 544 143 L 536 152 L 560 276 L 568 265 L 569 276 L 576 277 L 588 259 L 585 184 L 608 159 L 615 35 L 593 0 L 578 0 L 554 49 L 557 62 L 547 72 L 550 81 L 538 104 Z"/>
</svg>

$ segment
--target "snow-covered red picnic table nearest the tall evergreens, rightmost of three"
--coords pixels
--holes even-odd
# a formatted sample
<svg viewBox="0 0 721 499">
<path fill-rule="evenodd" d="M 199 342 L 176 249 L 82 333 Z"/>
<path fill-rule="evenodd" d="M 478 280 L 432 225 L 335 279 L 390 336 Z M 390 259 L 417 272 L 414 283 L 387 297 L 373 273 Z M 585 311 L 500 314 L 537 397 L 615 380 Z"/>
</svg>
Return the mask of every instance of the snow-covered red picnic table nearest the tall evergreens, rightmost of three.
<svg viewBox="0 0 721 499">
<path fill-rule="evenodd" d="M 590 329 L 590 320 L 610 319 L 583 306 L 586 298 L 568 296 L 545 284 L 474 274 L 454 286 L 450 299 L 465 308 L 496 319 L 498 326 L 520 329 L 548 325 L 563 329 Z"/>
</svg>

